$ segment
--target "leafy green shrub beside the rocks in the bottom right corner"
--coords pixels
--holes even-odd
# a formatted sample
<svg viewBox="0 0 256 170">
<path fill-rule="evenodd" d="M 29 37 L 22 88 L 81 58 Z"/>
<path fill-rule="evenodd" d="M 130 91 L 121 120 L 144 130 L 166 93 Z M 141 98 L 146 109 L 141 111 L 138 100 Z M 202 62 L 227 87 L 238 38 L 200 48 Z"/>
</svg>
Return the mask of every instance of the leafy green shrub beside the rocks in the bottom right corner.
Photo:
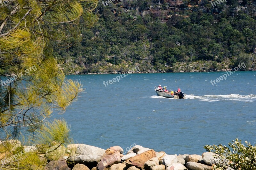
<svg viewBox="0 0 256 170">
<path fill-rule="evenodd" d="M 246 146 L 241 140 L 236 139 L 229 143 L 229 147 L 225 145 L 206 145 L 204 148 L 208 152 L 214 152 L 220 155 L 220 163 L 214 169 L 224 170 L 228 166 L 236 170 L 252 170 L 256 169 L 256 145 L 252 145 L 245 141 Z"/>
</svg>

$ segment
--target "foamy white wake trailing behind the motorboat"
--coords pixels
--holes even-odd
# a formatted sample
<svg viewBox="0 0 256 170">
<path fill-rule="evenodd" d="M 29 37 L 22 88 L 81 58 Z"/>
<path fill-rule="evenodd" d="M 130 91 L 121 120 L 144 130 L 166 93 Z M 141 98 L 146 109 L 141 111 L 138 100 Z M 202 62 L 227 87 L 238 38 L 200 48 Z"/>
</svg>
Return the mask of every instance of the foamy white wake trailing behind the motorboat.
<svg viewBox="0 0 256 170">
<path fill-rule="evenodd" d="M 223 101 L 223 100 L 233 100 L 233 101 L 244 101 L 244 102 L 254 102 L 256 101 L 256 95 L 240 95 L 240 94 L 229 94 L 229 95 L 204 95 L 204 96 L 194 96 L 193 94 L 186 95 L 185 99 L 197 99 L 199 101 Z"/>
</svg>

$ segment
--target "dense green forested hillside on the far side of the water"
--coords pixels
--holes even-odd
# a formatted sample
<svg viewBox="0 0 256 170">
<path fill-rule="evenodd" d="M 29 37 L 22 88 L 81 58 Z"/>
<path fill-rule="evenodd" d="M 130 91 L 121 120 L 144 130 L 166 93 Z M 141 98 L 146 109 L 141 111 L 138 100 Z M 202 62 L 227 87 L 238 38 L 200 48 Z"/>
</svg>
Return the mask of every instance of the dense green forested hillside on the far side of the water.
<svg viewBox="0 0 256 170">
<path fill-rule="evenodd" d="M 87 29 L 81 19 L 80 36 L 67 39 L 74 46 L 55 48 L 55 57 L 67 74 L 125 72 L 134 65 L 167 72 L 220 70 L 241 62 L 255 67 L 255 2 L 228 0 L 214 8 L 206 0 L 183 2 L 176 11 L 154 0 L 99 3 L 98 23 Z"/>
</svg>

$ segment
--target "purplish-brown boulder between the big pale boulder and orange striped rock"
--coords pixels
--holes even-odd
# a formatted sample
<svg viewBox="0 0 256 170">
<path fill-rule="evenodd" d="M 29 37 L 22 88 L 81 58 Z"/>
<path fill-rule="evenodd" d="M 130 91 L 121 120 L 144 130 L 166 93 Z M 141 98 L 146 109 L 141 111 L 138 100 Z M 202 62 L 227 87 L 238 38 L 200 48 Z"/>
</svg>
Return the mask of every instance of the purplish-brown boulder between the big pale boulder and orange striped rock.
<svg viewBox="0 0 256 170">
<path fill-rule="evenodd" d="M 110 167 L 111 165 L 114 165 L 120 162 L 121 162 L 120 152 L 114 151 L 113 154 L 105 155 L 101 158 L 100 162 L 97 165 L 97 169 L 103 170 L 106 167 Z"/>
</svg>

